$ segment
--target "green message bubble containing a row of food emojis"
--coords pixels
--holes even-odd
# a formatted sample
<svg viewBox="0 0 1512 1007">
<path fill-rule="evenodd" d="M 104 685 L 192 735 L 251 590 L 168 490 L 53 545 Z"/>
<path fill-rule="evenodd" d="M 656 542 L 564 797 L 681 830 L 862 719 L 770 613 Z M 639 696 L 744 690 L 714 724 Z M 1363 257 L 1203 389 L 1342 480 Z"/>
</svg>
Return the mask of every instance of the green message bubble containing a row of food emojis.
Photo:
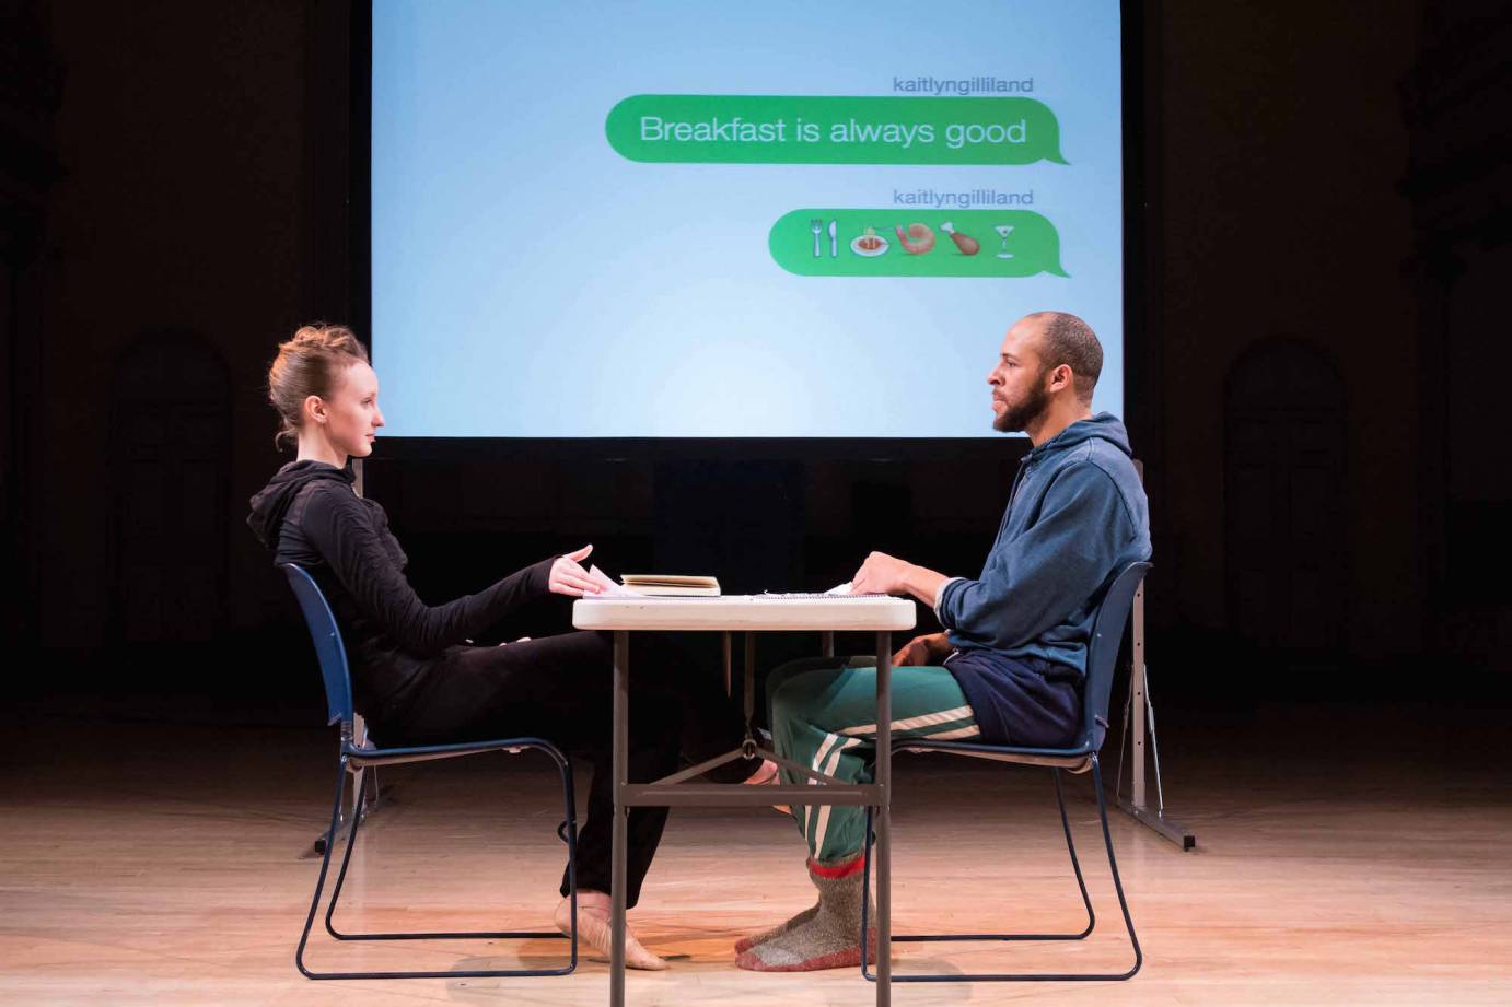
<svg viewBox="0 0 1512 1007">
<path fill-rule="evenodd" d="M 800 277 L 1066 275 L 1055 225 L 1033 210 L 794 210 L 767 245 Z"/>
</svg>

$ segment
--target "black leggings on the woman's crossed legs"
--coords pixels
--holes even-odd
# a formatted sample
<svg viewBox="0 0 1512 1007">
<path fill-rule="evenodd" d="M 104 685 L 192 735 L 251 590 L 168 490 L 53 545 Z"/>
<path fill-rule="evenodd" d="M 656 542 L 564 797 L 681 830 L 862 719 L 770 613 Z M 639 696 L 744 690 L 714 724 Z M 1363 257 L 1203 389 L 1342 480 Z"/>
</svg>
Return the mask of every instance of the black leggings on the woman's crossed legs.
<svg viewBox="0 0 1512 1007">
<path fill-rule="evenodd" d="M 715 668 L 683 668 L 665 641 L 632 634 L 629 782 L 649 783 L 741 738 Z M 503 647 L 451 647 L 407 689 L 399 711 L 373 724 L 384 745 L 546 738 L 593 764 L 588 813 L 578 835 L 578 888 L 608 892 L 612 789 L 612 637 L 572 632 Z M 685 742 L 686 738 L 686 742 Z M 720 782 L 750 773 L 736 761 Z M 629 813 L 634 906 L 667 826 L 665 807 Z M 567 880 L 562 877 L 562 895 Z"/>
</svg>

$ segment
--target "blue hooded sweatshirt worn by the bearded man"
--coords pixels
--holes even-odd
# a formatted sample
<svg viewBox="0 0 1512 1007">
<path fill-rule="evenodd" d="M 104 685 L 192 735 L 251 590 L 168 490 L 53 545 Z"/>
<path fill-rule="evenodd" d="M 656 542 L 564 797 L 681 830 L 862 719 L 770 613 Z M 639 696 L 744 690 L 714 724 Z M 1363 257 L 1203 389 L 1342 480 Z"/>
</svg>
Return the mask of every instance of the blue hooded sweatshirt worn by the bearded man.
<svg viewBox="0 0 1512 1007">
<path fill-rule="evenodd" d="M 1005 679 L 1024 668 L 1052 682 L 1084 676 L 1104 590 L 1149 552 L 1149 505 L 1117 417 L 1078 420 L 1025 455 L 981 576 L 948 581 L 934 603 L 962 652 L 947 667 L 983 738 L 1055 744 L 1024 736 L 1037 733 L 1021 723 L 1028 711 L 1010 709 L 1024 705 L 1024 682 Z M 1066 714 L 1077 711 L 1057 718 Z"/>
</svg>

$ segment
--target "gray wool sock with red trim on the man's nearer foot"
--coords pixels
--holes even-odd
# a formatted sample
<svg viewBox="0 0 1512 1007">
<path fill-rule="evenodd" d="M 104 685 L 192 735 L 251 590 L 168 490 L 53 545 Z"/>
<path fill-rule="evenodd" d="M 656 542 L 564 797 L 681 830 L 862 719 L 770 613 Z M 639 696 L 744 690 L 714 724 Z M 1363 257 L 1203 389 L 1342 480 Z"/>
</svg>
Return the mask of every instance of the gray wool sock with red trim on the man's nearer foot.
<svg viewBox="0 0 1512 1007">
<path fill-rule="evenodd" d="M 753 972 L 813 972 L 860 965 L 860 856 L 809 862 L 809 880 L 820 889 L 813 915 L 751 947 L 735 963 Z M 800 913 L 801 915 L 801 913 Z M 875 930 L 868 934 L 875 947 Z"/>
</svg>

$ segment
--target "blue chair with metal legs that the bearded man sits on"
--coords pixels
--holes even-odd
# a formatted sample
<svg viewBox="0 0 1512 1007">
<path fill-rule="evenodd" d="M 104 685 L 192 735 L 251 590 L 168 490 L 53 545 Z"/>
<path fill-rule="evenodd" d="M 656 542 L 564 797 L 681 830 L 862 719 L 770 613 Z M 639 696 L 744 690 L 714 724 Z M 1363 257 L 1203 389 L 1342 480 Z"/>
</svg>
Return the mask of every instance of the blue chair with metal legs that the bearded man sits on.
<svg viewBox="0 0 1512 1007">
<path fill-rule="evenodd" d="M 1102 794 L 1102 770 L 1098 765 L 1098 751 L 1108 730 L 1108 696 L 1113 691 L 1113 671 L 1119 656 L 1119 643 L 1123 640 L 1123 627 L 1128 624 L 1129 609 L 1134 605 L 1134 593 L 1139 590 L 1148 562 L 1131 562 L 1119 572 L 1113 584 L 1098 605 L 1096 618 L 1092 623 L 1092 640 L 1087 646 L 1087 677 L 1083 689 L 1081 733 L 1075 745 L 1069 748 L 1027 748 L 1021 745 L 987 745 L 965 741 L 927 741 L 907 738 L 892 742 L 892 750 L 900 751 L 947 751 L 975 759 L 993 759 L 998 762 L 1018 762 L 1021 765 L 1049 767 L 1055 780 L 1055 803 L 1060 804 L 1060 827 L 1066 833 L 1066 850 L 1070 853 L 1070 868 L 1077 874 L 1077 886 L 1081 889 L 1081 904 L 1087 909 L 1087 925 L 1080 933 L 969 933 L 969 934 L 907 934 L 894 940 L 1084 940 L 1096 927 L 1096 915 L 1092 910 L 1092 898 L 1087 895 L 1087 883 L 1081 877 L 1081 863 L 1077 860 L 1077 845 L 1070 838 L 1070 823 L 1066 820 L 1066 798 L 1060 786 L 1060 773 L 1086 773 L 1092 770 L 1092 786 L 1098 795 L 1098 816 L 1102 820 L 1102 841 L 1108 848 L 1108 866 L 1113 869 L 1113 888 L 1119 894 L 1119 907 L 1123 910 L 1123 925 L 1129 931 L 1129 943 L 1134 945 L 1134 965 L 1126 972 L 1086 974 L 1086 972 L 989 972 L 977 975 L 960 974 L 912 974 L 898 975 L 894 972 L 894 983 L 1009 983 L 1009 981 L 1075 981 L 1075 980 L 1126 980 L 1139 972 L 1145 962 L 1140 951 L 1139 937 L 1134 936 L 1134 919 L 1129 916 L 1129 904 L 1123 897 L 1123 882 L 1119 877 L 1119 865 L 1113 857 L 1113 836 L 1108 833 L 1108 806 Z M 871 835 L 872 809 L 866 809 L 866 851 L 862 872 L 862 934 L 866 933 L 868 901 L 871 898 Z M 886 948 L 878 948 L 878 954 L 886 954 Z M 862 940 L 860 971 L 868 980 L 875 981 L 866 963 L 866 942 Z"/>
</svg>

